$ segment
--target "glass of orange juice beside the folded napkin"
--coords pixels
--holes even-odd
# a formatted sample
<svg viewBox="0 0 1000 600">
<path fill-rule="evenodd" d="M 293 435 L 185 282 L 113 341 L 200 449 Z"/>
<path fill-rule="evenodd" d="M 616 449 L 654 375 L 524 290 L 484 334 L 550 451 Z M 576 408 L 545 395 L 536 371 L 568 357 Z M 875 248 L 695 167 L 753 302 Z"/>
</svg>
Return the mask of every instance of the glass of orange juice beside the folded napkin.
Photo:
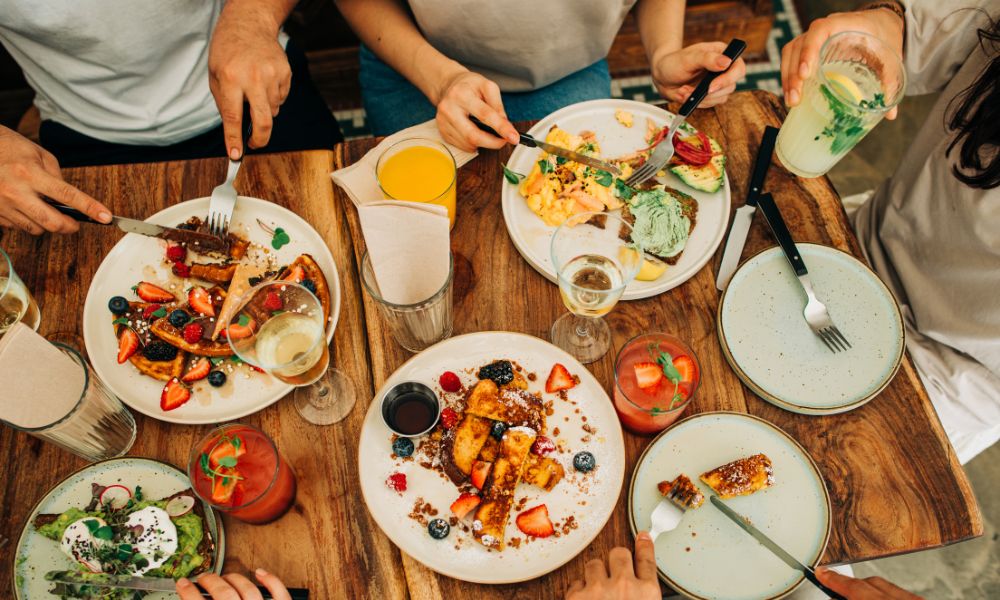
<svg viewBox="0 0 1000 600">
<path fill-rule="evenodd" d="M 448 209 L 455 226 L 455 179 L 458 168 L 448 147 L 434 140 L 409 138 L 396 142 L 375 164 L 382 195 L 389 200 L 439 204 Z"/>
</svg>

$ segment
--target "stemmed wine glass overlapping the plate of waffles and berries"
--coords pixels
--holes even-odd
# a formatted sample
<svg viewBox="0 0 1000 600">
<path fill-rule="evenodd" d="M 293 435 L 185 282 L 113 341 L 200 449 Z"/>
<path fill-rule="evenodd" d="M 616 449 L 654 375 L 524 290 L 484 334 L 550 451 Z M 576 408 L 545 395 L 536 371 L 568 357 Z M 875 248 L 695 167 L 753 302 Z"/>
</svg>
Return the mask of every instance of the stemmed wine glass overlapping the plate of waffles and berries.
<svg viewBox="0 0 1000 600">
<path fill-rule="evenodd" d="M 240 298 L 227 331 L 236 356 L 296 386 L 294 403 L 315 425 L 330 425 L 351 412 L 351 380 L 330 366 L 323 305 L 307 288 L 269 281 Z"/>
</svg>

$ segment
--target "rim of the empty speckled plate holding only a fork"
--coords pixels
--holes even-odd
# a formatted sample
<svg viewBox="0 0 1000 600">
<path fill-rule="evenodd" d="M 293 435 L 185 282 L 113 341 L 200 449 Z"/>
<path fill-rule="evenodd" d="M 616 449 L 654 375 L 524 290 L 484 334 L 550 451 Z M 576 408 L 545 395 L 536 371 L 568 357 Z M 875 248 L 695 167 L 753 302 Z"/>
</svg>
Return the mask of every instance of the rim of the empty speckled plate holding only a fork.
<svg viewBox="0 0 1000 600">
<path fill-rule="evenodd" d="M 856 408 L 861 408 L 865 404 L 868 404 L 873 399 L 875 399 L 875 397 L 881 394 L 885 390 L 885 388 L 889 387 L 889 384 L 892 383 L 893 379 L 895 379 L 896 373 L 899 372 L 899 368 L 903 364 L 903 356 L 906 354 L 906 328 L 903 325 L 903 315 L 899 310 L 899 303 L 896 302 L 896 297 L 892 295 L 892 292 L 889 290 L 889 287 L 885 284 L 885 282 L 882 281 L 882 278 L 879 277 L 878 274 L 871 269 L 871 267 L 861 262 L 861 260 L 859 260 L 853 254 L 845 252 L 840 248 L 834 248 L 833 246 L 826 246 L 824 244 L 817 244 L 813 242 L 796 242 L 796 245 L 812 246 L 816 248 L 821 248 L 823 249 L 822 251 L 832 250 L 835 252 L 839 252 L 840 254 L 843 254 L 847 258 L 857 263 L 859 267 L 861 267 L 864 271 L 866 271 L 869 275 L 871 275 L 871 277 L 878 282 L 879 286 L 881 286 L 882 290 L 885 292 L 886 297 L 892 301 L 892 306 L 894 308 L 893 314 L 895 315 L 896 317 L 895 320 L 897 322 L 897 325 L 899 326 L 901 339 L 899 344 L 899 351 L 896 353 L 896 357 L 893 360 L 893 367 L 886 372 L 885 379 L 864 398 L 853 400 L 845 404 L 839 404 L 836 406 L 830 406 L 825 408 L 818 408 L 815 406 L 802 406 L 799 404 L 795 404 L 790 400 L 779 398 L 778 396 L 772 394 L 771 392 L 768 392 L 763 387 L 761 387 L 760 384 L 751 379 L 750 376 L 747 375 L 746 372 L 743 370 L 743 368 L 739 366 L 729 348 L 729 342 L 726 340 L 726 333 L 723 330 L 722 326 L 722 310 L 726 303 L 726 294 L 729 291 L 729 286 L 726 286 L 726 289 L 723 290 L 722 296 L 719 298 L 719 306 L 716 309 L 715 313 L 716 331 L 718 332 L 719 335 L 719 343 L 722 346 L 722 353 L 726 356 L 726 362 L 729 363 L 729 366 L 732 367 L 733 371 L 736 372 L 736 376 L 740 378 L 740 381 L 742 381 L 744 385 L 750 388 L 750 390 L 757 397 L 777 406 L 778 408 L 783 408 L 787 411 L 798 413 L 801 415 L 814 415 L 814 416 L 837 415 L 840 413 L 850 412 Z M 781 248 L 779 246 L 771 246 L 770 248 L 764 248 L 763 250 L 755 253 L 750 258 L 746 259 L 743 262 L 743 264 L 741 264 L 739 268 L 737 268 L 736 271 L 733 272 L 733 277 L 735 278 L 736 273 L 739 273 L 741 269 L 749 265 L 751 261 L 758 259 L 760 256 L 768 252 L 776 253 L 780 251 Z"/>
</svg>

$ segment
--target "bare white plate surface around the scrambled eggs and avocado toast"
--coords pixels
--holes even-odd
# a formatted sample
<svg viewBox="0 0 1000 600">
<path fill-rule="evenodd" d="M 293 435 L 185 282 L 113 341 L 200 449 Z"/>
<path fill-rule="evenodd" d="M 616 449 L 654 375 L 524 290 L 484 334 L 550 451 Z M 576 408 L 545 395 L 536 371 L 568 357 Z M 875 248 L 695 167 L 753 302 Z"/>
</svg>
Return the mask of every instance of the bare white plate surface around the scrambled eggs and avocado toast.
<svg viewBox="0 0 1000 600">
<path fill-rule="evenodd" d="M 632 127 L 625 127 L 615 120 L 616 110 L 627 110 L 634 115 Z M 643 138 L 646 135 L 647 117 L 658 125 L 667 125 L 673 114 L 633 100 L 590 100 L 557 110 L 539 121 L 528 133 L 538 139 L 545 139 L 553 125 L 573 134 L 590 130 L 597 134 L 602 156 L 614 158 L 635 152 L 646 145 Z M 532 165 L 538 162 L 538 155 L 539 150 L 535 148 L 518 146 L 511 153 L 507 166 L 515 172 L 528 174 Z M 656 281 L 633 281 L 625 288 L 623 300 L 638 300 L 662 294 L 691 279 L 712 258 L 726 234 L 726 226 L 729 224 L 728 173 L 722 187 L 714 194 L 694 190 L 670 172 L 662 181 L 668 187 L 689 194 L 698 201 L 698 222 L 691 231 L 687 247 L 677 264 L 668 266 L 667 272 Z M 556 273 L 552 267 L 549 241 L 556 228 L 549 227 L 531 212 L 518 193 L 517 186 L 511 185 L 506 179 L 501 192 L 501 205 L 507 233 L 510 234 L 514 247 L 536 271 L 555 282 Z"/>
</svg>

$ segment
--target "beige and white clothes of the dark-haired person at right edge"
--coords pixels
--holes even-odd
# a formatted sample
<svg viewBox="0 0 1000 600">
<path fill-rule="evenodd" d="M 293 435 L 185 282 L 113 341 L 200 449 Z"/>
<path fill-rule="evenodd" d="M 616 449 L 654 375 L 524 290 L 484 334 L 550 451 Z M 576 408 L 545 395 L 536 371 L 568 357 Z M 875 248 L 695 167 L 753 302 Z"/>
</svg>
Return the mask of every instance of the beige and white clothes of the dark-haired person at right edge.
<svg viewBox="0 0 1000 600">
<path fill-rule="evenodd" d="M 1000 188 L 955 178 L 960 147 L 945 155 L 956 135 L 947 122 L 960 100 L 949 104 L 996 56 L 976 31 L 989 27 L 985 11 L 1000 17 L 1000 3 L 905 4 L 907 93 L 942 93 L 899 168 L 855 214 L 854 227 L 899 300 L 906 347 L 966 462 L 1000 439 Z"/>
</svg>

